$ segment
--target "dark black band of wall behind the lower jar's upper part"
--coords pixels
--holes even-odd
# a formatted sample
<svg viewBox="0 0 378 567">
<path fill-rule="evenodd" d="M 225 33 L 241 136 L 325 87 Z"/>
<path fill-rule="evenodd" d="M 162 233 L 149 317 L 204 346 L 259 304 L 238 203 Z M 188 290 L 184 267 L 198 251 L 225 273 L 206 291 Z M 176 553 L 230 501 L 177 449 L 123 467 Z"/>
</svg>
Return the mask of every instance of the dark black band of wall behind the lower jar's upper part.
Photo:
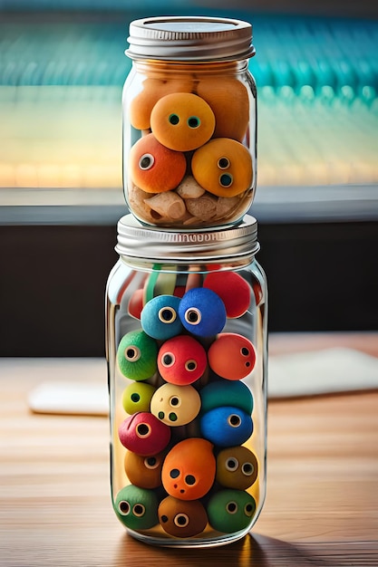
<svg viewBox="0 0 378 567">
<path fill-rule="evenodd" d="M 376 330 L 378 224 L 260 224 L 269 329 Z M 0 226 L 0 356 L 104 355 L 110 226 Z"/>
</svg>

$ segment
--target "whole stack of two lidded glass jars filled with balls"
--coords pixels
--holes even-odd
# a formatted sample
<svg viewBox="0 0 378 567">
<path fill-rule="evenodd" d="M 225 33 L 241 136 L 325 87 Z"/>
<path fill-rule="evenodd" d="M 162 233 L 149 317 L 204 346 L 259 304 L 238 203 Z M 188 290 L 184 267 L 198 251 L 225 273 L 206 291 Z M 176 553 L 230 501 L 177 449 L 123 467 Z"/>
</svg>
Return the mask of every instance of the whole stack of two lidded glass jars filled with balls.
<svg viewBox="0 0 378 567">
<path fill-rule="evenodd" d="M 251 25 L 131 23 L 106 292 L 115 514 L 148 543 L 249 532 L 266 491 L 267 282 L 255 255 Z"/>
</svg>

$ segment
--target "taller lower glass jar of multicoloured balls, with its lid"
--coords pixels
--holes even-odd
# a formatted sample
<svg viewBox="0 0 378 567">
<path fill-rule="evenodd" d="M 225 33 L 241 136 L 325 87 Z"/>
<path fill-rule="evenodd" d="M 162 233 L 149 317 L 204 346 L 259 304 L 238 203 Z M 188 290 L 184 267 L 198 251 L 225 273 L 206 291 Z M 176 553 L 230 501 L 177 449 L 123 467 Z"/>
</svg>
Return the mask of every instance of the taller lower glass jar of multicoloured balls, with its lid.
<svg viewBox="0 0 378 567">
<path fill-rule="evenodd" d="M 267 282 L 257 221 L 118 224 L 106 289 L 111 498 L 132 536 L 230 543 L 266 492 Z"/>
</svg>

